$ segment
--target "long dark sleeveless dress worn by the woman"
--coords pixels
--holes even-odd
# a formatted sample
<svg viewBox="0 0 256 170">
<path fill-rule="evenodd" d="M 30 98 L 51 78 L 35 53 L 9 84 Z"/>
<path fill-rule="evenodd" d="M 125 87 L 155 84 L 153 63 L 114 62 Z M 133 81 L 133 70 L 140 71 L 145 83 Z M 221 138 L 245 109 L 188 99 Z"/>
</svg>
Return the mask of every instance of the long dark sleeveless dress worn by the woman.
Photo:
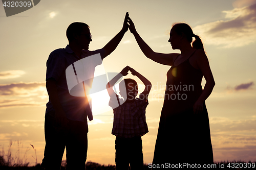
<svg viewBox="0 0 256 170">
<path fill-rule="evenodd" d="M 189 58 L 167 72 L 153 164 L 213 163 L 205 103 L 201 114 L 193 112 L 193 105 L 203 91 L 203 75 L 190 65 Z"/>
</svg>

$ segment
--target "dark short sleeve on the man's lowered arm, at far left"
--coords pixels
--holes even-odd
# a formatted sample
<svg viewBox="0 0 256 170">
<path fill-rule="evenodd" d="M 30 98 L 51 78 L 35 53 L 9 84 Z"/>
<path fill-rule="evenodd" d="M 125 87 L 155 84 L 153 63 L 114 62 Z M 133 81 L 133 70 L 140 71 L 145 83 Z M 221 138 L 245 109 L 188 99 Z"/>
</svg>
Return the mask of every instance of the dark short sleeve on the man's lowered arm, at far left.
<svg viewBox="0 0 256 170">
<path fill-rule="evenodd" d="M 61 56 L 60 49 L 53 51 L 46 62 L 46 80 L 53 78 L 59 80 L 63 71 L 65 71 L 65 58 Z"/>
</svg>

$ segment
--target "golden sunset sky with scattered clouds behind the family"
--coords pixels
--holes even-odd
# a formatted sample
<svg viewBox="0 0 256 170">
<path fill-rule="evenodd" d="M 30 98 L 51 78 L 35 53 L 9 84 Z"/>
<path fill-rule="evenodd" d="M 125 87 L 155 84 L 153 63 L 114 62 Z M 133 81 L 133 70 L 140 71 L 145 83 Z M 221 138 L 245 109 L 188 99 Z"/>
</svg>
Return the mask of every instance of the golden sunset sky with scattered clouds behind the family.
<svg viewBox="0 0 256 170">
<path fill-rule="evenodd" d="M 216 82 L 206 100 L 214 161 L 256 161 L 255 0 L 45 0 L 9 17 L 1 6 L 0 154 L 7 154 L 12 141 L 14 156 L 19 154 L 31 165 L 36 159 L 41 163 L 49 54 L 66 47 L 66 29 L 75 21 L 90 26 L 93 41 L 89 50 L 102 48 L 121 30 L 127 11 L 140 36 L 155 52 L 179 53 L 167 42 L 176 22 L 188 23 L 201 37 Z M 144 163 L 152 162 L 170 66 L 147 59 L 130 31 L 102 65 L 105 72 L 120 72 L 129 65 L 151 81 L 153 88 L 146 108 L 150 132 L 142 136 L 142 141 Z M 140 91 L 143 89 L 136 77 L 129 74 L 126 78 L 135 79 Z M 111 109 L 89 122 L 87 161 L 115 164 L 112 126 Z"/>
</svg>

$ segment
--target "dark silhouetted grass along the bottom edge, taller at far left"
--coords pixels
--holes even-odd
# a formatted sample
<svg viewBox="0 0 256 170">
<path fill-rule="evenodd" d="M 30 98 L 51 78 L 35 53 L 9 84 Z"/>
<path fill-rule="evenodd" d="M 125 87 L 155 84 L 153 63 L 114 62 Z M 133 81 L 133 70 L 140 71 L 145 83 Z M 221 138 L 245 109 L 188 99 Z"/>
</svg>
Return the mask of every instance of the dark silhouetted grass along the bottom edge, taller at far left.
<svg viewBox="0 0 256 170">
<path fill-rule="evenodd" d="M 37 156 L 36 156 L 36 149 L 32 144 L 30 144 L 34 150 L 34 156 L 32 156 L 35 160 L 35 164 L 31 165 L 29 162 L 27 162 L 27 151 L 29 150 L 28 148 L 26 149 L 25 153 L 22 153 L 22 142 L 21 141 L 16 141 L 17 142 L 17 152 L 13 154 L 11 151 L 13 142 L 10 140 L 9 144 L 9 149 L 8 152 L 5 153 L 4 149 L 0 151 L 0 170 L 6 170 L 6 169 L 17 169 L 17 170 L 43 170 L 40 164 L 37 162 Z M 215 162 L 213 165 L 208 165 L 208 169 L 255 169 L 255 164 L 256 162 L 244 162 L 244 161 L 227 161 L 227 162 Z M 177 164 L 176 164 L 177 165 Z M 61 170 L 65 170 L 66 166 L 66 160 L 62 161 L 62 166 Z M 172 165 L 172 166 L 175 166 Z M 162 169 L 168 169 L 172 168 L 170 165 L 163 165 Z M 152 164 L 144 164 L 144 169 L 151 169 Z M 181 166 L 178 166 L 180 167 Z M 183 166 L 183 168 L 203 168 L 203 165 L 199 167 L 198 165 L 195 166 L 193 164 L 190 164 L 190 166 L 186 165 Z M 95 162 L 87 162 L 86 163 L 86 169 L 87 170 L 114 170 L 115 165 L 101 165 L 99 163 Z"/>
</svg>

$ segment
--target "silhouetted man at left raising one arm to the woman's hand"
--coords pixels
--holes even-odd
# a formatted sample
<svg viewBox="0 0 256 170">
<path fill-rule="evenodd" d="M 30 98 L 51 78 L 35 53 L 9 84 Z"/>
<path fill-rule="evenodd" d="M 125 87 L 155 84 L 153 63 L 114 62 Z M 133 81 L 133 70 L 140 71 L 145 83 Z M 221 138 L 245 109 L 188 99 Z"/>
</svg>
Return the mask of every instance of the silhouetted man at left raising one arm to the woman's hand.
<svg viewBox="0 0 256 170">
<path fill-rule="evenodd" d="M 101 59 L 110 55 L 128 29 L 128 13 L 125 15 L 121 31 L 103 48 L 89 51 L 92 41 L 89 26 L 73 22 L 67 29 L 69 44 L 66 48 L 53 51 L 47 60 L 46 88 L 49 95 L 45 116 L 45 154 L 41 166 L 45 169 L 58 169 L 63 152 L 67 151 L 67 169 L 85 169 L 88 147 L 87 116 L 92 112 L 87 96 L 77 97 L 69 94 L 66 68 L 74 62 L 94 54 Z M 94 70 L 93 70 L 94 71 Z"/>
</svg>

